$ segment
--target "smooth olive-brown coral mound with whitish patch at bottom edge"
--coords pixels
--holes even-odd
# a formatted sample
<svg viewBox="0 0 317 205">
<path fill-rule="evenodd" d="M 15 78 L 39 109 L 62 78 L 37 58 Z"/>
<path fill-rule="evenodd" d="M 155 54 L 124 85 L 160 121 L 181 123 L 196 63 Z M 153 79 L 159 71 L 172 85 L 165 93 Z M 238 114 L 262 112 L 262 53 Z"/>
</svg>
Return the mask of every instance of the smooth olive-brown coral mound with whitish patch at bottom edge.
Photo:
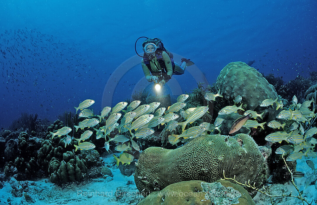
<svg viewBox="0 0 317 205">
<path fill-rule="evenodd" d="M 138 205 L 159 204 L 255 204 L 242 186 L 229 181 L 185 181 L 149 194 Z"/>
</svg>

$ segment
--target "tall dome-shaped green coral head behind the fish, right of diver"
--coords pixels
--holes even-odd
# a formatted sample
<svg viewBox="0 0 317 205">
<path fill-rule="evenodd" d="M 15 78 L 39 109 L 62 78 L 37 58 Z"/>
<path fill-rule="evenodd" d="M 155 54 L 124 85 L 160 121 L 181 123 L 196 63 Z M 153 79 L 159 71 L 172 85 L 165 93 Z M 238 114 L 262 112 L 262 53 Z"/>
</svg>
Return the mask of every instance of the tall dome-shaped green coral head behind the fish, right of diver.
<svg viewBox="0 0 317 205">
<path fill-rule="evenodd" d="M 260 103 L 265 99 L 276 99 L 277 93 L 274 86 L 253 67 L 243 62 L 231 62 L 226 65 L 217 77 L 216 89 L 221 90 L 221 94 L 233 105 L 233 100 L 240 95 L 241 102 L 245 104 L 246 110 L 254 110 L 258 113 L 265 111 L 268 121 L 275 119 L 281 111 L 276 111 L 276 105 L 271 107 L 260 107 Z"/>
</svg>

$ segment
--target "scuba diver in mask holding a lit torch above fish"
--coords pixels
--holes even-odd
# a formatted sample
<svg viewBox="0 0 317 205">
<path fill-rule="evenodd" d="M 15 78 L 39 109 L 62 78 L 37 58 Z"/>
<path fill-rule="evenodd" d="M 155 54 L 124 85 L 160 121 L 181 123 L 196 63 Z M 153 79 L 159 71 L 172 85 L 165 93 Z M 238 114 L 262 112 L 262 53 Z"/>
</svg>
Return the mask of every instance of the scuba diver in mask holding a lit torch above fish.
<svg viewBox="0 0 317 205">
<path fill-rule="evenodd" d="M 136 43 L 140 38 L 146 38 L 142 43 L 144 56 L 138 54 Z M 142 69 L 146 80 L 159 83 L 161 86 L 171 79 L 172 75 L 184 74 L 187 66 L 194 65 L 190 59 L 182 58 L 181 65 L 173 60 L 173 54 L 164 48 L 159 38 L 139 37 L 135 42 L 135 52 L 142 57 Z"/>
</svg>

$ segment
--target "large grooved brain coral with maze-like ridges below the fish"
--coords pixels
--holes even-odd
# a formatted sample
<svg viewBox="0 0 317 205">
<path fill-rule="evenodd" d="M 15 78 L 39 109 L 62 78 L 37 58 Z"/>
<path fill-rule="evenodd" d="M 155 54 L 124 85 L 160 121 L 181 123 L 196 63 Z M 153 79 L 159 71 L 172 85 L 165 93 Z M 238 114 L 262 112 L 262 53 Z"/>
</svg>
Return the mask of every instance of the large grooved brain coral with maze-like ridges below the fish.
<svg viewBox="0 0 317 205">
<path fill-rule="evenodd" d="M 267 163 L 250 136 L 204 135 L 175 150 L 147 148 L 136 163 L 134 181 L 147 195 L 182 181 L 215 182 L 223 170 L 226 177 L 236 175 L 239 182 L 250 180 L 259 187 L 268 176 Z"/>
</svg>

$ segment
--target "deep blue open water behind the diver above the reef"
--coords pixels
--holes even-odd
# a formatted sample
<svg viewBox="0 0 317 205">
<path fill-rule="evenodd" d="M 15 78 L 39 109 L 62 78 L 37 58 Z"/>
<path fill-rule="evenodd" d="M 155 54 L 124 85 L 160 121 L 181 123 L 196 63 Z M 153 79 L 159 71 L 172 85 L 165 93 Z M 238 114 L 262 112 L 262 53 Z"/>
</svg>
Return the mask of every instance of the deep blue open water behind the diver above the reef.
<svg viewBox="0 0 317 205">
<path fill-rule="evenodd" d="M 2 0 L 0 125 L 22 112 L 55 120 L 85 99 L 100 111 L 148 86 L 133 64 L 141 61 L 134 52 L 140 36 L 162 39 L 176 62 L 195 62 L 165 85 L 166 93 L 190 91 L 203 76 L 212 84 L 232 61 L 254 60 L 259 72 L 286 82 L 308 77 L 317 71 L 316 13 L 313 0 Z"/>
</svg>

